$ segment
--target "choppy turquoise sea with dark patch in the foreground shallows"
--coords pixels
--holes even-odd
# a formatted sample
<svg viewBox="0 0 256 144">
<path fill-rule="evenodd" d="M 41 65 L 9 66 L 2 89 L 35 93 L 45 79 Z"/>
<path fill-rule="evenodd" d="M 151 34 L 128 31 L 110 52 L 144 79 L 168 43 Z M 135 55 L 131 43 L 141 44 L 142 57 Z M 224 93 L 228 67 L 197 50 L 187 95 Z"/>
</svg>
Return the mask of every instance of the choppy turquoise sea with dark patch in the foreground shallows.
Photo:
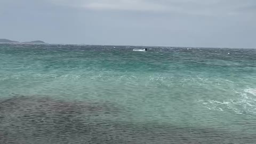
<svg viewBox="0 0 256 144">
<path fill-rule="evenodd" d="M 0 44 L 0 143 L 254 143 L 256 49 Z"/>
</svg>

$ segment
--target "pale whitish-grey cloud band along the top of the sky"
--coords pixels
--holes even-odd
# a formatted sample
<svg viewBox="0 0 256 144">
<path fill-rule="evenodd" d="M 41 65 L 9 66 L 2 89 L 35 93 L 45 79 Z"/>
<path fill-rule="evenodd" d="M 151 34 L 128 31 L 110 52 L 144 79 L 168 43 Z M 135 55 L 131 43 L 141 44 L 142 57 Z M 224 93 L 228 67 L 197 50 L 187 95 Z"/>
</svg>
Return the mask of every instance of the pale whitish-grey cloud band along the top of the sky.
<svg viewBox="0 0 256 144">
<path fill-rule="evenodd" d="M 242 14 L 255 5 L 253 0 L 49 0 L 55 4 L 91 10 L 176 12 L 196 15 Z M 253 7 L 252 7 L 253 8 Z M 255 12 L 255 9 L 251 9 Z"/>
</svg>

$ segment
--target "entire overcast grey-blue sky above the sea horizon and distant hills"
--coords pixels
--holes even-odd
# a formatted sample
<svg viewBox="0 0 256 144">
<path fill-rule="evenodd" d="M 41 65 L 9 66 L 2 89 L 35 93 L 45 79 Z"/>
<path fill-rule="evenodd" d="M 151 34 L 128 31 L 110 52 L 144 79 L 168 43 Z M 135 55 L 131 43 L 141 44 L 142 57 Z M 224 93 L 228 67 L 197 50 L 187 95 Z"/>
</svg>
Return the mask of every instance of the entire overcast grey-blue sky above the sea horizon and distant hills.
<svg viewBox="0 0 256 144">
<path fill-rule="evenodd" d="M 255 0 L 0 0 L 0 38 L 256 47 Z"/>
</svg>

